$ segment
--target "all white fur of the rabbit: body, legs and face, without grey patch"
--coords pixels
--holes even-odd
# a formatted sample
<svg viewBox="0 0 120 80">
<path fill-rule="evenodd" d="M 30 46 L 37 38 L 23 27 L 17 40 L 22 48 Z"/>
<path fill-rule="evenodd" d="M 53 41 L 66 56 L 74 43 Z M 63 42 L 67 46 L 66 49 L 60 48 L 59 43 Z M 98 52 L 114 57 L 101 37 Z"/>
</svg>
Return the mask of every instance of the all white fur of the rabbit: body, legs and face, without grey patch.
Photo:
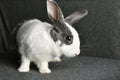
<svg viewBox="0 0 120 80">
<path fill-rule="evenodd" d="M 61 61 L 60 56 L 74 57 L 79 55 L 80 41 L 76 30 L 66 23 L 73 34 L 73 43 L 71 45 L 62 45 L 56 43 L 50 36 L 50 30 L 53 26 L 38 19 L 26 21 L 18 30 L 17 41 L 19 43 L 19 52 L 21 53 L 22 63 L 19 72 L 28 72 L 30 62 L 36 63 L 40 73 L 51 73 L 48 63 Z"/>
</svg>

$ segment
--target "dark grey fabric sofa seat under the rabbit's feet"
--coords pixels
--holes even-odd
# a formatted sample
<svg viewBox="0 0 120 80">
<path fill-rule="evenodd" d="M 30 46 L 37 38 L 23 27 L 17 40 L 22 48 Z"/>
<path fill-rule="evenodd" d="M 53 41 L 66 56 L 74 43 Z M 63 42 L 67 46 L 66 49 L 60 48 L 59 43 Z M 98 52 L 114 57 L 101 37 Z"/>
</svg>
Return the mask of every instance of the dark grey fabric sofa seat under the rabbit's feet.
<svg viewBox="0 0 120 80">
<path fill-rule="evenodd" d="M 13 56 L 0 57 L 0 80 L 120 80 L 120 61 L 95 57 L 63 58 L 50 63 L 51 74 L 40 74 L 32 65 L 28 73 L 19 73 Z"/>
</svg>

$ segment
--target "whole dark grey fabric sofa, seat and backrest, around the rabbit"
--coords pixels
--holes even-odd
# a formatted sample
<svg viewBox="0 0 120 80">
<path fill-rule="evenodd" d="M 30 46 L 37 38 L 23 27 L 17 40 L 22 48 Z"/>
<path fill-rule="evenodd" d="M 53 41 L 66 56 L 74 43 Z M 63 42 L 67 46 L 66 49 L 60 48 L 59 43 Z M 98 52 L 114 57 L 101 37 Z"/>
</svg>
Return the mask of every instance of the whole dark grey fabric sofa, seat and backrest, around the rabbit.
<svg viewBox="0 0 120 80">
<path fill-rule="evenodd" d="M 30 72 L 19 73 L 13 29 L 25 19 L 50 22 L 46 0 L 0 0 L 0 80 L 120 80 L 120 0 L 56 2 L 65 16 L 79 9 L 89 11 L 74 25 L 81 39 L 81 54 L 50 63 L 51 74 L 40 74 L 34 64 Z"/>
</svg>

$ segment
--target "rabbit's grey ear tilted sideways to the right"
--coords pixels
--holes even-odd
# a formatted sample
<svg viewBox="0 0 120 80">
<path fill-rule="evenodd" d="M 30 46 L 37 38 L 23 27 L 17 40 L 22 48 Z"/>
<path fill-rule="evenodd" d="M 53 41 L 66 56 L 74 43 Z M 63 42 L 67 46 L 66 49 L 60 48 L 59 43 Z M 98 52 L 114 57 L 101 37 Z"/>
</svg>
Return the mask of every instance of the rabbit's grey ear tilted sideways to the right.
<svg viewBox="0 0 120 80">
<path fill-rule="evenodd" d="M 85 17 L 88 14 L 88 11 L 86 9 L 79 10 L 74 13 L 72 13 L 70 16 L 65 18 L 65 21 L 69 23 L 70 25 L 74 24 L 75 22 L 79 21 L 83 17 Z"/>
</svg>

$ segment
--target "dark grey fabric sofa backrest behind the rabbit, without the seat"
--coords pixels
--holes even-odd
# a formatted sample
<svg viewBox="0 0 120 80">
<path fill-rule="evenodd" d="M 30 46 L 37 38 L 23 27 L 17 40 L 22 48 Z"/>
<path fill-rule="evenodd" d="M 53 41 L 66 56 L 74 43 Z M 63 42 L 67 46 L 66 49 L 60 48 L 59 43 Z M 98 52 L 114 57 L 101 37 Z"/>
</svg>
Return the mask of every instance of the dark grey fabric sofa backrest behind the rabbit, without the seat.
<svg viewBox="0 0 120 80">
<path fill-rule="evenodd" d="M 120 57 L 119 0 L 56 0 L 64 16 L 79 9 L 89 14 L 74 24 L 81 39 L 81 55 Z M 0 52 L 13 49 L 11 33 L 25 19 L 38 18 L 49 22 L 46 0 L 0 0 Z M 86 45 L 86 46 L 85 46 Z"/>
</svg>

